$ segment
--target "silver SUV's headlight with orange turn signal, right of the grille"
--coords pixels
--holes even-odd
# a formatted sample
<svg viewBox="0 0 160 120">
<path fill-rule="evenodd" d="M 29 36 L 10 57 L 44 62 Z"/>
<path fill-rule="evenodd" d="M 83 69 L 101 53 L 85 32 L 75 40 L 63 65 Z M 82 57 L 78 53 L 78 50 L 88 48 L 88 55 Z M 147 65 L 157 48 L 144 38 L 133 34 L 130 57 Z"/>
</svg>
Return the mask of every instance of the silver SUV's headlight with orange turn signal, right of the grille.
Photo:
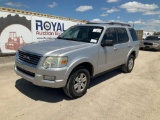
<svg viewBox="0 0 160 120">
<path fill-rule="evenodd" d="M 44 68 L 61 68 L 67 65 L 67 57 L 47 57 L 43 63 Z"/>
</svg>

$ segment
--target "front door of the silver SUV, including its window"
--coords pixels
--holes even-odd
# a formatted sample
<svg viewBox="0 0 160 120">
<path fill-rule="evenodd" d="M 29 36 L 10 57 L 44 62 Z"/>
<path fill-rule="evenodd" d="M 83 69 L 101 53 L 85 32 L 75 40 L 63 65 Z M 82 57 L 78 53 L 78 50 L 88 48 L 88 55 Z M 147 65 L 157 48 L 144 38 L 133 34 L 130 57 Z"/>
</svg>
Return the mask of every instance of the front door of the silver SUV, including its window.
<svg viewBox="0 0 160 120">
<path fill-rule="evenodd" d="M 113 40 L 114 45 L 99 47 L 98 72 L 109 70 L 120 64 L 119 58 L 121 56 L 119 56 L 119 45 L 117 44 L 115 28 L 108 28 L 104 34 L 103 40 Z"/>
</svg>

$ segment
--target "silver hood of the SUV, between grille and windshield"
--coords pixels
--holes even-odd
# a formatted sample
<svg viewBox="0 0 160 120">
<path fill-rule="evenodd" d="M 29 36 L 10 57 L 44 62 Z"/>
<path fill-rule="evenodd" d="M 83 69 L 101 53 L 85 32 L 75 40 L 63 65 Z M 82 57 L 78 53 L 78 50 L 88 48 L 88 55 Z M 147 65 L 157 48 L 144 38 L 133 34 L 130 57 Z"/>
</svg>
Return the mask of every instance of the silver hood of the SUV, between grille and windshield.
<svg viewBox="0 0 160 120">
<path fill-rule="evenodd" d="M 62 39 L 54 39 L 50 41 L 41 41 L 30 43 L 21 47 L 19 50 L 36 53 L 40 55 L 54 54 L 58 55 L 72 50 L 91 46 L 93 43 L 69 41 Z"/>
</svg>

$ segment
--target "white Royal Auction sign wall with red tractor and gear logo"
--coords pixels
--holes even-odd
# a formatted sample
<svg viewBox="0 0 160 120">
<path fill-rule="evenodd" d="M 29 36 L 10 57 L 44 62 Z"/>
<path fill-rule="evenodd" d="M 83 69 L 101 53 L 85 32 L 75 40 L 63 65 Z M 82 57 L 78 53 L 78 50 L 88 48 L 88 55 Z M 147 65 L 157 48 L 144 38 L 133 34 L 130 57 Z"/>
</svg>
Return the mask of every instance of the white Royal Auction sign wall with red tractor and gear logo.
<svg viewBox="0 0 160 120">
<path fill-rule="evenodd" d="M 0 7 L 0 53 L 15 53 L 28 43 L 50 40 L 87 21 Z"/>
</svg>

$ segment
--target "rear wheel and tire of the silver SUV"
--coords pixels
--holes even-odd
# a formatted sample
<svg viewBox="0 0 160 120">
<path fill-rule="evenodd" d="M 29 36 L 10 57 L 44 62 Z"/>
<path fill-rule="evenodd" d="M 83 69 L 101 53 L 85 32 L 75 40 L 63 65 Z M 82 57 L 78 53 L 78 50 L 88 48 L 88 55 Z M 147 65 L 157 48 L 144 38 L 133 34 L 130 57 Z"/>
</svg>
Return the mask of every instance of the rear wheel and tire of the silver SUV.
<svg viewBox="0 0 160 120">
<path fill-rule="evenodd" d="M 134 67 L 134 60 L 135 57 L 133 55 L 130 55 L 127 60 L 127 63 L 122 65 L 122 71 L 125 73 L 130 73 Z"/>
</svg>

